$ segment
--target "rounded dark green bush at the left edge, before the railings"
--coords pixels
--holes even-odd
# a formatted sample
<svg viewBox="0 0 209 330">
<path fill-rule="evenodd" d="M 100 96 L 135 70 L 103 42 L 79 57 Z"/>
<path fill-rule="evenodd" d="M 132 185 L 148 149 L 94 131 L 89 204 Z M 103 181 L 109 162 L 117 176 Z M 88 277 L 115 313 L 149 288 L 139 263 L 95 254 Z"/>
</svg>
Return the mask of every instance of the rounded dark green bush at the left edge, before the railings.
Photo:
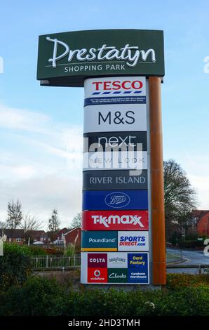
<svg viewBox="0 0 209 330">
<path fill-rule="evenodd" d="M 32 273 L 31 252 L 17 244 L 4 244 L 4 256 L 0 257 L 0 290 L 23 284 Z"/>
</svg>

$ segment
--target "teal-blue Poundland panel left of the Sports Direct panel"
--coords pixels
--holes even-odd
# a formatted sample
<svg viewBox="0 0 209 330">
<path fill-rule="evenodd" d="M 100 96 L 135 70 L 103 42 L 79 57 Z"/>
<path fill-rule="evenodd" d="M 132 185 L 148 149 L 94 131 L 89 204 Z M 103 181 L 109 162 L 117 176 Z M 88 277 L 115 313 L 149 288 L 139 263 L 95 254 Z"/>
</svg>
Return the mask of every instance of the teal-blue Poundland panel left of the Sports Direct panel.
<svg viewBox="0 0 209 330">
<path fill-rule="evenodd" d="M 117 251 L 118 233 L 116 231 L 82 231 L 81 251 Z"/>
</svg>

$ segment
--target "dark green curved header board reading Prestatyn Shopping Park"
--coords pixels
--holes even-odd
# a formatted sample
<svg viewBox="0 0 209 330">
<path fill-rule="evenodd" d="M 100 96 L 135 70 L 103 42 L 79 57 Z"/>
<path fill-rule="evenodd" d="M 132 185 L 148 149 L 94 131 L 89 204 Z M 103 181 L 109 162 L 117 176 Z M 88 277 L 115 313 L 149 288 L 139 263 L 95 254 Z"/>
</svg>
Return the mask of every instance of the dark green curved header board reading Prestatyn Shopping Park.
<svg viewBox="0 0 209 330">
<path fill-rule="evenodd" d="M 83 86 L 88 77 L 164 76 L 163 31 L 104 29 L 39 37 L 37 79 Z"/>
</svg>

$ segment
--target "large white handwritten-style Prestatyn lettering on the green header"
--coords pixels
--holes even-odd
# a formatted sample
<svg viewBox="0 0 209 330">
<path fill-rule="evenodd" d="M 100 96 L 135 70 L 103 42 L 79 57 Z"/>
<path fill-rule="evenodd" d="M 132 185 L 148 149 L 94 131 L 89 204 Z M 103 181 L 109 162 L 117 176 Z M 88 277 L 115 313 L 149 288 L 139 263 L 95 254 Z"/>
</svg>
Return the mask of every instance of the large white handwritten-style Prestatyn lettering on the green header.
<svg viewBox="0 0 209 330">
<path fill-rule="evenodd" d="M 135 67 L 138 62 L 156 62 L 156 54 L 153 48 L 144 50 L 138 46 L 126 44 L 117 49 L 116 46 L 103 44 L 99 48 L 71 49 L 68 44 L 56 38 L 46 37 L 46 40 L 53 43 L 53 55 L 48 59 L 53 68 L 57 67 L 58 61 L 62 58 L 66 58 L 69 63 L 73 60 L 79 62 L 119 60 L 126 62 L 128 67 Z"/>
</svg>

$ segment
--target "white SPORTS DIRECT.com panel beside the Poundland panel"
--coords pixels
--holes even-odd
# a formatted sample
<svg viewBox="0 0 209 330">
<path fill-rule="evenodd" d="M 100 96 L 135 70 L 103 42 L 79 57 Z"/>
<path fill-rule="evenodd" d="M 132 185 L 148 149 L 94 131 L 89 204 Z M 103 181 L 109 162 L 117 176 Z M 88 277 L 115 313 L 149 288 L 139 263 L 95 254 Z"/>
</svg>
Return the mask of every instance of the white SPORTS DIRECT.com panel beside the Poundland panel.
<svg viewBox="0 0 209 330">
<path fill-rule="evenodd" d="M 123 231 L 118 233 L 118 251 L 149 251 L 149 232 Z"/>
</svg>

